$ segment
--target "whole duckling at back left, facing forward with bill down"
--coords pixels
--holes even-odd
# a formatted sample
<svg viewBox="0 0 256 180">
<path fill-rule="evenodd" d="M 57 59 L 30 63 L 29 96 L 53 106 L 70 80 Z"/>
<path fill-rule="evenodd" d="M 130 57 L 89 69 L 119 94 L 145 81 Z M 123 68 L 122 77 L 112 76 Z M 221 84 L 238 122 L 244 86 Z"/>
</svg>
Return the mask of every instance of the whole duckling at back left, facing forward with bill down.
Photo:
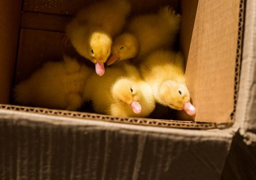
<svg viewBox="0 0 256 180">
<path fill-rule="evenodd" d="M 111 53 L 112 38 L 119 33 L 131 11 L 127 0 L 94 3 L 77 13 L 67 25 L 66 35 L 76 51 L 95 64 L 98 75 Z"/>
</svg>

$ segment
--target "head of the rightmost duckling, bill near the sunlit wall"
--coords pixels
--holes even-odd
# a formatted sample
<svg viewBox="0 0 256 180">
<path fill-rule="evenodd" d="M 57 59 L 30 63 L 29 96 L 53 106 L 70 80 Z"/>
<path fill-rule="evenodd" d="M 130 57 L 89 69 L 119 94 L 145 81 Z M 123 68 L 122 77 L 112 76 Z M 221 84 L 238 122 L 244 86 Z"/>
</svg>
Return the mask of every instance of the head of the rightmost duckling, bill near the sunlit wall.
<svg viewBox="0 0 256 180">
<path fill-rule="evenodd" d="M 190 116 L 196 114 L 195 107 L 189 102 L 190 94 L 187 86 L 173 80 L 164 81 L 158 89 L 158 97 L 163 105 L 174 110 L 184 110 Z"/>
</svg>

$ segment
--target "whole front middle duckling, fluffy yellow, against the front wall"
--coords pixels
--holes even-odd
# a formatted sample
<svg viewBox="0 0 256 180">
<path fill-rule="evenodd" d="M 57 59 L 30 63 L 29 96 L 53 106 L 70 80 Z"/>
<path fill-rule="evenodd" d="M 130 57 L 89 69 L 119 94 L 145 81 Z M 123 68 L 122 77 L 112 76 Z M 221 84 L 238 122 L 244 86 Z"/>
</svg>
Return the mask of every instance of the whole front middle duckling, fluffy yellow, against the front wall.
<svg viewBox="0 0 256 180">
<path fill-rule="evenodd" d="M 152 87 L 142 81 L 136 67 L 127 64 L 106 69 L 103 77 L 92 74 L 84 100 L 92 100 L 95 112 L 112 116 L 146 117 L 155 108 Z"/>
</svg>

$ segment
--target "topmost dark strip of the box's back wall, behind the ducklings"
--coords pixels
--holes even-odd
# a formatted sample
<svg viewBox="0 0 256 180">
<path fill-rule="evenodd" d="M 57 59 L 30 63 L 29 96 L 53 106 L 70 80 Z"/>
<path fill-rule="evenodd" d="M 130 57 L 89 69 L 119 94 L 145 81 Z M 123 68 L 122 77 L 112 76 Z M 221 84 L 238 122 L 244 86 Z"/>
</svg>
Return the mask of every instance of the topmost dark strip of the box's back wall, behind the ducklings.
<svg viewBox="0 0 256 180">
<path fill-rule="evenodd" d="M 24 11 L 36 11 L 45 12 L 53 14 L 69 14 L 74 15 L 77 10 L 86 7 L 87 5 L 93 3 L 93 0 L 24 0 L 23 10 Z M 178 0 L 158 0 L 158 1 L 148 1 L 148 0 L 131 0 L 132 12 L 148 12 L 157 10 L 158 6 L 171 5 L 175 9 L 178 8 Z"/>
</svg>

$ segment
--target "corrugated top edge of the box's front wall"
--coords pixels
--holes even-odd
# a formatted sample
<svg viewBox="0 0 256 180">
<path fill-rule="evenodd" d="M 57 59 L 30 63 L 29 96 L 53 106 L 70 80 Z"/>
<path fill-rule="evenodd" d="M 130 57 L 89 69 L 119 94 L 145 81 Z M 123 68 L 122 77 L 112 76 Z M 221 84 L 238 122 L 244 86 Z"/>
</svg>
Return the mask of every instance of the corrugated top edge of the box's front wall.
<svg viewBox="0 0 256 180">
<path fill-rule="evenodd" d="M 138 124 L 138 125 L 149 125 L 153 127 L 165 127 L 165 128 L 183 128 L 183 129 L 215 129 L 215 123 L 195 123 L 191 121 L 175 121 L 175 120 L 163 120 L 163 119 L 149 119 L 149 118 L 123 118 L 115 116 L 107 116 L 93 113 L 82 113 L 74 111 L 64 111 L 64 110 L 53 110 L 45 109 L 40 107 L 28 107 L 28 106 L 18 106 L 9 104 L 0 104 L 0 110 L 4 111 L 20 111 L 24 113 L 37 113 L 40 115 L 50 115 L 50 116 L 62 116 L 71 117 L 74 119 L 83 120 L 98 120 L 106 122 L 119 122 L 126 124 Z"/>
</svg>

